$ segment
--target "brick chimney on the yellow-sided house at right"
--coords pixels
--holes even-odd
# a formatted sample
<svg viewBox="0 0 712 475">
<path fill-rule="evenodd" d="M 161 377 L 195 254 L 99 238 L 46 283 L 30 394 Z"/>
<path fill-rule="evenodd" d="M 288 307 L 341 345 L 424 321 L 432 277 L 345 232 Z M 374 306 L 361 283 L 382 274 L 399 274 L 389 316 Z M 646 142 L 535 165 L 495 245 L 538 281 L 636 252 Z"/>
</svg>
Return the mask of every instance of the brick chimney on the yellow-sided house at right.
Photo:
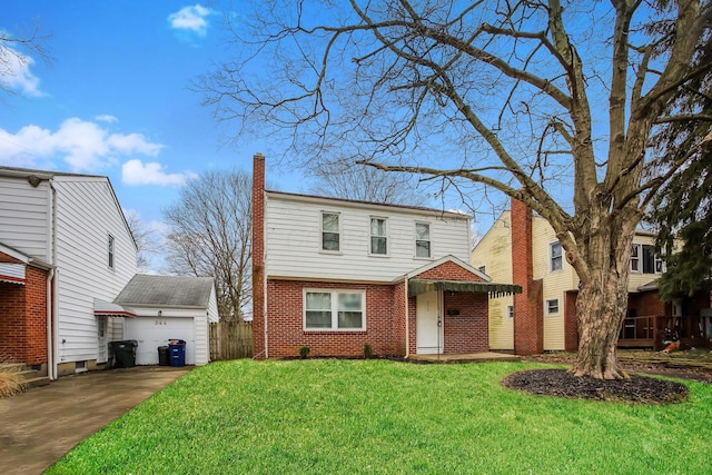
<svg viewBox="0 0 712 475">
<path fill-rule="evenodd" d="M 544 309 L 542 281 L 534 281 L 532 255 L 532 210 L 512 198 L 512 280 L 522 286 L 514 295 L 514 353 L 544 352 Z"/>
</svg>

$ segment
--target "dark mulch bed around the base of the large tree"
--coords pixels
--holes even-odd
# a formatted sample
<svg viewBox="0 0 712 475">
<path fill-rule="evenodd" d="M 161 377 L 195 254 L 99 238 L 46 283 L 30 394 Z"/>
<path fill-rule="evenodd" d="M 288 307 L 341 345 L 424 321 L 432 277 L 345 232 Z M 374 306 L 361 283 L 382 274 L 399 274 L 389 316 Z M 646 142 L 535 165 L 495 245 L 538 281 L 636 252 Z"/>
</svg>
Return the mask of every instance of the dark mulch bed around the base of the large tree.
<svg viewBox="0 0 712 475">
<path fill-rule="evenodd" d="M 633 404 L 671 404 L 688 400 L 681 383 L 631 375 L 630 379 L 576 377 L 566 369 L 531 369 L 502 380 L 505 387 L 532 394 L 575 399 L 614 400 Z"/>
</svg>

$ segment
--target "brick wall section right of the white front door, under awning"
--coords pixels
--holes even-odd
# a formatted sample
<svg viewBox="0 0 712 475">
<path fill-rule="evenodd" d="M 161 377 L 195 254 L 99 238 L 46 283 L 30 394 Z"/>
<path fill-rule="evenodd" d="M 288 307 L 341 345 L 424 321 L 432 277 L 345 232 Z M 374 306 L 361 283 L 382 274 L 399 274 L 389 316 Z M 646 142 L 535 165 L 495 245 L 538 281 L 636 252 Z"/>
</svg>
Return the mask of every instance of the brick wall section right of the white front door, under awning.
<svg viewBox="0 0 712 475">
<path fill-rule="evenodd" d="M 487 294 L 444 294 L 443 352 L 451 355 L 488 352 Z"/>
</svg>

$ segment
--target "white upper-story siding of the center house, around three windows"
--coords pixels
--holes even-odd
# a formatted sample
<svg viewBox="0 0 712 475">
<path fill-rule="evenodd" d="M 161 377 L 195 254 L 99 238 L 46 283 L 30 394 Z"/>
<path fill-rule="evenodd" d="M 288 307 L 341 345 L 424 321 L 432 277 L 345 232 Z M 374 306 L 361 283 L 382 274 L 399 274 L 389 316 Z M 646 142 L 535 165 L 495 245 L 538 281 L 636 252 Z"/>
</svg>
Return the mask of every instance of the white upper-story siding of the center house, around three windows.
<svg viewBox="0 0 712 475">
<path fill-rule="evenodd" d="M 267 194 L 265 251 L 268 276 L 389 283 L 423 266 L 423 259 L 416 258 L 413 250 L 414 220 L 431 224 L 431 240 L 437 243 L 437 248 L 432 249 L 433 259 L 453 255 L 469 260 L 468 216 L 340 201 L 325 205 L 324 201 Z M 325 206 L 338 206 L 338 254 L 319 251 Z M 369 258 L 372 216 L 388 218 L 387 259 Z"/>
</svg>

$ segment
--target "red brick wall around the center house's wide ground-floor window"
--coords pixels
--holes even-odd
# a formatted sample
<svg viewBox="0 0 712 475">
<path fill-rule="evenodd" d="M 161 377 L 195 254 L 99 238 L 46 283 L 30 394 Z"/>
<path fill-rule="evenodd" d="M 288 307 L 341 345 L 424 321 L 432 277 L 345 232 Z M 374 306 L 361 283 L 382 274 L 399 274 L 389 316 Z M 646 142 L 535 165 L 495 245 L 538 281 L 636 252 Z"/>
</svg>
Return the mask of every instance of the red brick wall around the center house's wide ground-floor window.
<svg viewBox="0 0 712 475">
<path fill-rule="evenodd" d="M 305 330 L 304 289 L 366 290 L 366 330 Z M 402 343 L 394 335 L 393 285 L 338 284 L 301 280 L 267 281 L 267 342 L 270 358 L 299 356 L 301 346 L 309 356 L 364 356 L 369 344 L 374 356 L 399 355 Z"/>
</svg>

